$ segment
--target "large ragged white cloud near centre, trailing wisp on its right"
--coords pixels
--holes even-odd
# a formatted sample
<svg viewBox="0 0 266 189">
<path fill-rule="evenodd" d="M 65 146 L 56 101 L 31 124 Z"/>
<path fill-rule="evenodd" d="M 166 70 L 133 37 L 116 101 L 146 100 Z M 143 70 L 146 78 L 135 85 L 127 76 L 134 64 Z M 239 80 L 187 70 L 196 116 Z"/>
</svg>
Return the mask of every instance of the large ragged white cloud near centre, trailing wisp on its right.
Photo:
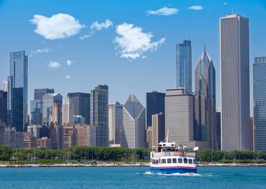
<svg viewBox="0 0 266 189">
<path fill-rule="evenodd" d="M 120 57 L 129 60 L 145 58 L 144 52 L 157 50 L 158 45 L 165 42 L 165 38 L 151 42 L 153 34 L 144 33 L 141 27 L 132 24 L 121 24 L 116 27 L 118 36 L 115 38 L 116 49 Z"/>
</svg>

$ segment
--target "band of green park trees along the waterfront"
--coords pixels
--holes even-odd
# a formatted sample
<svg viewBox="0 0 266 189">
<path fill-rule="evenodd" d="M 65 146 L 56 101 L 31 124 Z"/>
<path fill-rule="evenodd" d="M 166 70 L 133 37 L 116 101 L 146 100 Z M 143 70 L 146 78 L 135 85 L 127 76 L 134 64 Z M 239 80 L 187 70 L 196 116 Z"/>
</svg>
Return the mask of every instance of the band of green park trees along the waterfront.
<svg viewBox="0 0 266 189">
<path fill-rule="evenodd" d="M 110 148 L 73 146 L 62 150 L 43 150 L 11 148 L 10 146 L 0 146 L 0 164 L 55 164 L 66 162 L 92 163 L 103 162 L 148 162 L 150 159 L 148 148 Z M 198 163 L 266 163 L 266 153 L 253 151 L 212 151 L 204 149 L 197 151 Z"/>
</svg>

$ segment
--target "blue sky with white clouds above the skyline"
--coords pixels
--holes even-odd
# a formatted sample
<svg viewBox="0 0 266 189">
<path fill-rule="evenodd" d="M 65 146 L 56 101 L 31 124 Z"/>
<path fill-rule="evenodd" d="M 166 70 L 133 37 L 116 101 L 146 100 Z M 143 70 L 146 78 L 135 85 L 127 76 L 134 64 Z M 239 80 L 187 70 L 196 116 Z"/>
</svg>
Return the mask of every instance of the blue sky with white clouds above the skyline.
<svg viewBox="0 0 266 189">
<path fill-rule="evenodd" d="M 9 52 L 25 50 L 29 101 L 34 88 L 66 97 L 106 84 L 110 103 L 133 93 L 146 106 L 146 92 L 176 87 L 175 45 L 188 34 L 193 75 L 204 45 L 213 59 L 219 107 L 219 18 L 230 13 L 249 18 L 252 114 L 253 59 L 266 56 L 263 0 L 0 0 L 0 80 L 9 75 Z"/>
</svg>

